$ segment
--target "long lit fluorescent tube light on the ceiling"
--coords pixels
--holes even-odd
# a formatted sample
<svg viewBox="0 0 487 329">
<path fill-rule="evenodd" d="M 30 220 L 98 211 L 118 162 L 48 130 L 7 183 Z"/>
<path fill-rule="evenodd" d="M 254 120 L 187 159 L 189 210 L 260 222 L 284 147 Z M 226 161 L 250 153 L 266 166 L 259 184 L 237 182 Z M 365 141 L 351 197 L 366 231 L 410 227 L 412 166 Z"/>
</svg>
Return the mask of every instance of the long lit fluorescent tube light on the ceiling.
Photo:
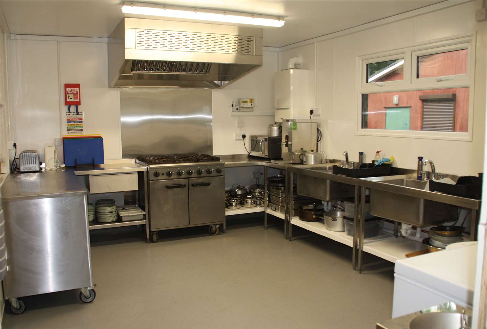
<svg viewBox="0 0 487 329">
<path fill-rule="evenodd" d="M 198 19 L 225 23 L 239 23 L 280 27 L 284 20 L 280 17 L 245 14 L 212 9 L 195 9 L 141 2 L 124 2 L 122 12 L 125 14 L 149 15 L 170 18 Z"/>
</svg>

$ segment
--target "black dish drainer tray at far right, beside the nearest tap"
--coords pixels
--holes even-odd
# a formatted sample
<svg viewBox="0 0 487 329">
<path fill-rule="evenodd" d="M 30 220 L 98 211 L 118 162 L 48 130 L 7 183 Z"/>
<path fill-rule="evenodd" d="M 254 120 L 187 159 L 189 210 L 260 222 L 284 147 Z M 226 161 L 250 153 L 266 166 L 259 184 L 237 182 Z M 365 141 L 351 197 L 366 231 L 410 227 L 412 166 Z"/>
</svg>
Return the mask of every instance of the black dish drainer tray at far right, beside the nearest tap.
<svg viewBox="0 0 487 329">
<path fill-rule="evenodd" d="M 455 185 L 430 180 L 430 191 L 442 192 L 464 198 L 481 199 L 482 173 L 479 173 L 479 177 L 462 176 Z"/>
</svg>

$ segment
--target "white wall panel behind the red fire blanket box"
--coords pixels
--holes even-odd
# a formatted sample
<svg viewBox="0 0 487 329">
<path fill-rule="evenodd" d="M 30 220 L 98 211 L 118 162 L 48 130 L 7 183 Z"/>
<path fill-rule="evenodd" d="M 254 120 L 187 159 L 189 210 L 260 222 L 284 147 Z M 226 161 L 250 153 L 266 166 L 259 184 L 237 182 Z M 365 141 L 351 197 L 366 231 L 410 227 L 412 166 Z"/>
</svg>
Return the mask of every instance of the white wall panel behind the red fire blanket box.
<svg viewBox="0 0 487 329">
<path fill-rule="evenodd" d="M 64 84 L 81 85 L 85 134 L 100 133 L 105 159 L 121 159 L 118 89 L 108 88 L 107 44 L 59 42 L 63 134 L 66 134 Z M 73 110 L 73 107 L 71 107 Z"/>
</svg>

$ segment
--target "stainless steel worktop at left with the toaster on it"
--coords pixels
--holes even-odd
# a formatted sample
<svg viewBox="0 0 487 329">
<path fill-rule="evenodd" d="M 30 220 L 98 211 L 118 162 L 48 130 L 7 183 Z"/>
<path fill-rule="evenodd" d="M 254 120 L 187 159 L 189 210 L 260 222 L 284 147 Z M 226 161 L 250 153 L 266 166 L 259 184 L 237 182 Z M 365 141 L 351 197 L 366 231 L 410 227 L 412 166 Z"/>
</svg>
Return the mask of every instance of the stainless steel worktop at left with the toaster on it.
<svg viewBox="0 0 487 329">
<path fill-rule="evenodd" d="M 11 174 L 1 187 L 3 202 L 86 194 L 72 170 Z"/>
</svg>

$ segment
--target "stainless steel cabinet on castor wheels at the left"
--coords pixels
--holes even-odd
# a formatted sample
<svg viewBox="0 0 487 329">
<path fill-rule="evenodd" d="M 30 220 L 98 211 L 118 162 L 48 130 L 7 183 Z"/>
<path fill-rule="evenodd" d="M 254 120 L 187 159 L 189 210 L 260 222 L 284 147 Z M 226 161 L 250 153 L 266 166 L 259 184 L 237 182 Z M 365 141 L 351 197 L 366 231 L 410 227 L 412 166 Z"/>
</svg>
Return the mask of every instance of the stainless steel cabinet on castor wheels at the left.
<svg viewBox="0 0 487 329">
<path fill-rule="evenodd" d="M 1 189 L 7 273 L 4 297 L 14 313 L 19 297 L 81 289 L 94 300 L 87 192 L 72 171 L 10 175 Z"/>
</svg>

